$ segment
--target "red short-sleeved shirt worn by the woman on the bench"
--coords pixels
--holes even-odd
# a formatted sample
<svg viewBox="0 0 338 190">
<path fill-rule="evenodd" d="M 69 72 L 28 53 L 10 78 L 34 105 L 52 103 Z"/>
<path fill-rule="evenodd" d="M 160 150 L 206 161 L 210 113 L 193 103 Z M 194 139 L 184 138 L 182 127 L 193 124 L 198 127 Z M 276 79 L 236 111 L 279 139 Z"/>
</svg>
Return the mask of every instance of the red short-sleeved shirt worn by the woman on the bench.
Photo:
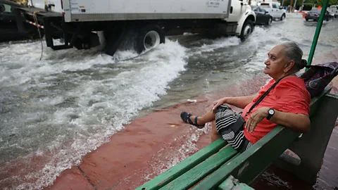
<svg viewBox="0 0 338 190">
<path fill-rule="evenodd" d="M 275 80 L 270 80 L 268 84 L 258 91 L 257 98 L 253 99 L 253 101 L 244 108 L 242 113 L 243 118 L 253 103 L 255 103 L 274 83 Z M 268 96 L 265 96 L 263 101 L 258 103 L 258 105 L 251 110 L 251 113 L 254 113 L 258 108 L 268 107 L 285 113 L 302 113 L 308 115 L 310 111 L 310 103 L 311 96 L 306 90 L 304 81 L 299 77 L 287 77 L 281 80 L 275 88 L 270 91 Z M 245 121 L 249 119 L 251 113 L 244 118 Z M 246 129 L 244 129 L 244 136 L 246 139 L 251 141 L 251 143 L 256 143 L 276 126 L 277 124 L 264 118 L 257 124 L 252 133 L 249 133 Z"/>
</svg>

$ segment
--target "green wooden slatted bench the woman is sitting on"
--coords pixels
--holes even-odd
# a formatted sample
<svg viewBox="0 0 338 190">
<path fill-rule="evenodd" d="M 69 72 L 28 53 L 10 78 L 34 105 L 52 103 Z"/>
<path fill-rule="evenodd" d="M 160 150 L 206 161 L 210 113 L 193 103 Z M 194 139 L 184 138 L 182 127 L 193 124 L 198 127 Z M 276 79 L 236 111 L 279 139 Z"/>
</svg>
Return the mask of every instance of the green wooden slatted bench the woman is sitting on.
<svg viewBox="0 0 338 190">
<path fill-rule="evenodd" d="M 251 189 L 246 184 L 273 163 L 314 184 L 338 115 L 338 96 L 329 92 L 311 100 L 311 132 L 301 138 L 277 126 L 243 153 L 218 139 L 137 189 Z M 300 159 L 284 155 L 287 148 Z"/>
</svg>

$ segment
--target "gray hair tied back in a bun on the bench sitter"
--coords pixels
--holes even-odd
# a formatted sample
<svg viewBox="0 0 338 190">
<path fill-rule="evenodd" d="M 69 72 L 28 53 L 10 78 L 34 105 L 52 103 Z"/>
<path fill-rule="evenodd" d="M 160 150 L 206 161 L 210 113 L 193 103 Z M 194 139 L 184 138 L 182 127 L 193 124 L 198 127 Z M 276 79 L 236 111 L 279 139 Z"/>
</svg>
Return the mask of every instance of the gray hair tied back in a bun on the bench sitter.
<svg viewBox="0 0 338 190">
<path fill-rule="evenodd" d="M 284 42 L 281 45 L 285 46 L 284 54 L 288 61 L 294 61 L 294 71 L 299 71 L 306 66 L 306 60 L 302 60 L 303 51 L 295 42 Z"/>
</svg>

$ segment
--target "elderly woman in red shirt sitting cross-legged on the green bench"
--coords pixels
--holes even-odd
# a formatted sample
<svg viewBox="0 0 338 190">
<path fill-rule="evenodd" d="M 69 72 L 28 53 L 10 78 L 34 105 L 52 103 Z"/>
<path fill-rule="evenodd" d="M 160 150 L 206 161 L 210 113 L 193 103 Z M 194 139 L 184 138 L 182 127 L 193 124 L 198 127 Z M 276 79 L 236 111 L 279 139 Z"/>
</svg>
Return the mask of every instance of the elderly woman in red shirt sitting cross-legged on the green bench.
<svg viewBox="0 0 338 190">
<path fill-rule="evenodd" d="M 273 79 L 257 94 L 219 99 L 203 116 L 182 112 L 182 120 L 199 128 L 212 122 L 211 140 L 221 136 L 238 151 L 250 148 L 277 125 L 308 132 L 311 96 L 295 74 L 306 66 L 302 56 L 303 51 L 294 42 L 273 47 L 264 69 Z M 244 108 L 243 113 L 234 113 L 225 103 Z"/>
</svg>

